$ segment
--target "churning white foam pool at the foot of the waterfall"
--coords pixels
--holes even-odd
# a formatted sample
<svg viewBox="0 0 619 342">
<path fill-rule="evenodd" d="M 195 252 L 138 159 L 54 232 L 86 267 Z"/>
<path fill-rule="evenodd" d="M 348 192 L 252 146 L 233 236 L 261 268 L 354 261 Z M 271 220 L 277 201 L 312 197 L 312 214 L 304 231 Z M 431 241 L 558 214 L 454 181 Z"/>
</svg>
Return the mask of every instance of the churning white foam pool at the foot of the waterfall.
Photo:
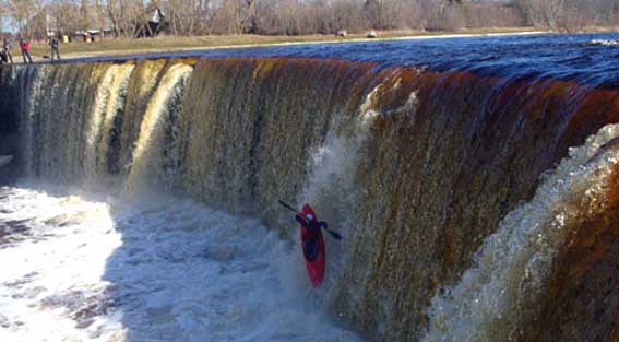
<svg viewBox="0 0 619 342">
<path fill-rule="evenodd" d="M 360 341 L 255 220 L 34 188 L 0 188 L 0 341 Z"/>
</svg>

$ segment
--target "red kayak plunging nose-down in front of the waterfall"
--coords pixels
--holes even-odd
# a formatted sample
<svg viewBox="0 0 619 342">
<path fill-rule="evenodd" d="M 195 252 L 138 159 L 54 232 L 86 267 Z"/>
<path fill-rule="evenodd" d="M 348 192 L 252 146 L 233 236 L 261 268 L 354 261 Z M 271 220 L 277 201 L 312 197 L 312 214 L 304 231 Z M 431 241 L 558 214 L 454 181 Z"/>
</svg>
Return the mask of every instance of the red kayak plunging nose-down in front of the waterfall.
<svg viewBox="0 0 619 342">
<path fill-rule="evenodd" d="M 305 204 L 301 209 L 303 217 L 308 214 L 313 215 L 314 220 L 318 220 L 313 209 L 309 204 Z M 325 247 L 324 238 L 322 237 L 322 232 L 319 231 L 318 237 L 313 244 L 308 240 L 307 228 L 302 225 L 300 227 L 300 238 L 301 238 L 301 251 L 303 253 L 303 259 L 306 260 L 306 268 L 308 269 L 308 275 L 310 278 L 313 287 L 320 286 L 322 280 L 324 279 L 324 261 L 325 261 Z M 316 245 L 318 244 L 318 245 Z"/>
</svg>

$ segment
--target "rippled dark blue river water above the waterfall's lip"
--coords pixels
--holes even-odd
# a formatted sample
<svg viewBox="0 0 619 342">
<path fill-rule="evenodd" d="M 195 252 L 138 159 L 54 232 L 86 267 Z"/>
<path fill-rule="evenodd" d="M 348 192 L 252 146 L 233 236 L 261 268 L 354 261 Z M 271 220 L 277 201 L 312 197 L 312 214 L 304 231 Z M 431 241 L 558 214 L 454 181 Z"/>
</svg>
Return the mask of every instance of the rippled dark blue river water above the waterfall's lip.
<svg viewBox="0 0 619 342">
<path fill-rule="evenodd" d="M 325 43 L 224 48 L 148 55 L 97 57 L 78 61 L 169 57 L 308 57 L 407 66 L 432 71 L 467 70 L 510 78 L 552 78 L 595 86 L 617 86 L 619 47 L 591 45 L 617 34 L 535 34 L 453 38 Z"/>
</svg>

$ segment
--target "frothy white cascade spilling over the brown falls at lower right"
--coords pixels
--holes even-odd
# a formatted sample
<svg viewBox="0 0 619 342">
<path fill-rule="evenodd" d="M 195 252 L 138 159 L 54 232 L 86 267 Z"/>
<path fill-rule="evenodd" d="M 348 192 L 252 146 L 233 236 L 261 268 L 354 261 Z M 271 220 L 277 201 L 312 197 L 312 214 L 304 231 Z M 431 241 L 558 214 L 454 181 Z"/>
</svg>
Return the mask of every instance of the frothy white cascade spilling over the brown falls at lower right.
<svg viewBox="0 0 619 342">
<path fill-rule="evenodd" d="M 570 150 L 533 200 L 501 221 L 476 253 L 474 267 L 432 299 L 431 330 L 424 341 L 521 341 L 531 333 L 524 327 L 544 320 L 541 304 L 550 293 L 561 246 L 611 208 L 608 192 L 617 185 L 609 178 L 619 154 L 594 156 L 618 134 L 617 125 L 607 126 Z"/>
</svg>

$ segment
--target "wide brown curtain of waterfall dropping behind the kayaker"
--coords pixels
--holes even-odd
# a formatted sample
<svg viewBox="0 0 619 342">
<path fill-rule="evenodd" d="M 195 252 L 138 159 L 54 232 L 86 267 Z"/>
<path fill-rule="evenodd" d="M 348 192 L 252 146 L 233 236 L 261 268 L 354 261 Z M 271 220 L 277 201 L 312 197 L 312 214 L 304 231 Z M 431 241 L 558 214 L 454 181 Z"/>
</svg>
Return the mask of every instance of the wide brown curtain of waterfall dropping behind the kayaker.
<svg viewBox="0 0 619 342">
<path fill-rule="evenodd" d="M 15 73 L 24 175 L 192 198 L 293 243 L 276 199 L 309 202 L 345 235 L 321 303 L 377 340 L 536 337 L 587 253 L 564 245 L 612 212 L 587 203 L 611 198 L 614 150 L 587 161 L 619 96 L 586 80 L 301 57 Z"/>
</svg>

